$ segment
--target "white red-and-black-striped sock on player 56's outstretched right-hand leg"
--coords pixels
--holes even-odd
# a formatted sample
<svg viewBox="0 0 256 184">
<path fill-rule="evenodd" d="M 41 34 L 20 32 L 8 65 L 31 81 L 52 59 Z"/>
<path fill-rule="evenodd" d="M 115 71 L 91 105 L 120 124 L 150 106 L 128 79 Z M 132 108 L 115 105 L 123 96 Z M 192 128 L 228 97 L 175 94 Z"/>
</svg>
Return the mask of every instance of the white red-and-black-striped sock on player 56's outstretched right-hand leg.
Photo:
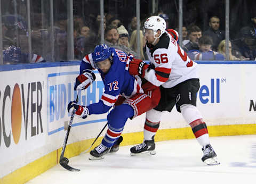
<svg viewBox="0 0 256 184">
<path fill-rule="evenodd" d="M 189 126 L 201 146 L 210 143 L 209 134 L 205 122 L 203 121 L 202 114 L 198 111 L 196 106 L 185 104 L 180 106 L 181 114 Z"/>
</svg>

